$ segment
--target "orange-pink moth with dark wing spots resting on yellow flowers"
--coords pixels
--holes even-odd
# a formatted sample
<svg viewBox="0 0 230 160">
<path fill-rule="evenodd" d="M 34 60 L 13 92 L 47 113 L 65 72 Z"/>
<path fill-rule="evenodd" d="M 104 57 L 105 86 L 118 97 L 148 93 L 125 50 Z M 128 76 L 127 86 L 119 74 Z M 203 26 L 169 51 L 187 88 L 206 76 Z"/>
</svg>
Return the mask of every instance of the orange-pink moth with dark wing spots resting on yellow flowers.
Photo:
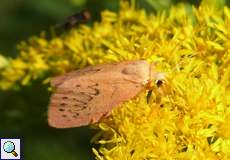
<svg viewBox="0 0 230 160">
<path fill-rule="evenodd" d="M 96 123 L 159 75 L 146 60 L 135 60 L 89 66 L 54 77 L 48 123 L 55 128 Z"/>
</svg>

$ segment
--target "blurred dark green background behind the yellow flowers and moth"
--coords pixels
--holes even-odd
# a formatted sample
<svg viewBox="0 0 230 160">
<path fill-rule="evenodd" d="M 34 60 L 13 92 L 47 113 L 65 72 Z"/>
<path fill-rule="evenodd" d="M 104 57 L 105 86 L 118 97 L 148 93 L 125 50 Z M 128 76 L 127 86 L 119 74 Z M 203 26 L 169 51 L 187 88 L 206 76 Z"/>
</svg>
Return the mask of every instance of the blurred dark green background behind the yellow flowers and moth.
<svg viewBox="0 0 230 160">
<path fill-rule="evenodd" d="M 136 0 L 137 6 L 156 12 L 183 2 L 199 5 L 199 0 Z M 208 1 L 208 0 L 206 0 Z M 229 1 L 220 0 L 219 3 Z M 61 23 L 82 9 L 100 20 L 104 9 L 117 11 L 119 0 L 0 0 L 0 53 L 17 56 L 16 45 L 51 26 Z M 89 127 L 54 129 L 47 125 L 47 105 L 50 93 L 47 86 L 35 82 L 20 90 L 0 91 L 0 138 L 22 138 L 26 160 L 90 160 L 94 159 L 90 139 L 95 130 Z"/>
</svg>

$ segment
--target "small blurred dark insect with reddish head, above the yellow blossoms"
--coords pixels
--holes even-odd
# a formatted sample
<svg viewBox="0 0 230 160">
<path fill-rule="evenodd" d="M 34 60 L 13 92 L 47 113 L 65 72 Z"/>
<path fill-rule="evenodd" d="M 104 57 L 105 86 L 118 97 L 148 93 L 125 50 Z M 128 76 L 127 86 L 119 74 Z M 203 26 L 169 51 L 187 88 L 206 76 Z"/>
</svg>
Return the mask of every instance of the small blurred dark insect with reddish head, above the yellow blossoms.
<svg viewBox="0 0 230 160">
<path fill-rule="evenodd" d="M 82 10 L 81 12 L 75 13 L 66 18 L 65 22 L 62 24 L 57 24 L 55 28 L 64 27 L 65 30 L 69 30 L 74 26 L 82 23 L 86 23 L 91 18 L 91 14 L 87 10 Z"/>
</svg>

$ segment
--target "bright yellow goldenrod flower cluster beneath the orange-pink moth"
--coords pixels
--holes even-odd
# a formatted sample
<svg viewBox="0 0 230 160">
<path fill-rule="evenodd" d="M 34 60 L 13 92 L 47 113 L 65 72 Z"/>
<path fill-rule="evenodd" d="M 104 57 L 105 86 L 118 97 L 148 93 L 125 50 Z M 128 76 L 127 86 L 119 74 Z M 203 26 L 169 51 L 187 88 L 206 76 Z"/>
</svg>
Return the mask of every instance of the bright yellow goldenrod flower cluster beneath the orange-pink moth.
<svg viewBox="0 0 230 160">
<path fill-rule="evenodd" d="M 167 76 L 99 123 L 97 160 L 230 159 L 230 9 L 177 4 L 147 14 L 123 2 L 92 27 L 32 37 L 0 56 L 0 88 L 86 65 L 147 59 Z"/>
</svg>

